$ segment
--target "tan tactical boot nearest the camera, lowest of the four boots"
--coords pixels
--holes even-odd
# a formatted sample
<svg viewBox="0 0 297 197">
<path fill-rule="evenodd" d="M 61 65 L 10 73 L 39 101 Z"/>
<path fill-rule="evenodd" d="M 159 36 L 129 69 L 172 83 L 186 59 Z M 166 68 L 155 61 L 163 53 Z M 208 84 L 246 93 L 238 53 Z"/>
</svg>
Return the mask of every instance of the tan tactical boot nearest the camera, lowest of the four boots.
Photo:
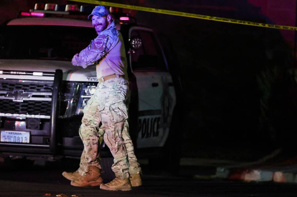
<svg viewBox="0 0 297 197">
<path fill-rule="evenodd" d="M 115 177 L 114 180 L 112 180 L 109 183 L 101 184 L 100 189 L 105 190 L 120 190 L 120 191 L 130 191 L 132 189 L 131 183 L 129 178 L 122 180 L 121 178 Z"/>
</svg>

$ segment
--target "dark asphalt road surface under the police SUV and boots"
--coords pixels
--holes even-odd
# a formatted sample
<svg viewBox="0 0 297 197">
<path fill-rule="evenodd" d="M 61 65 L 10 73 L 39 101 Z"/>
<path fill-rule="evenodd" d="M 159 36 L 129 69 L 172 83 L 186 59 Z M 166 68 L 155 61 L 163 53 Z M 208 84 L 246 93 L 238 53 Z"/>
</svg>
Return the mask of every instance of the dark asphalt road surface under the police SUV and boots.
<svg viewBox="0 0 297 197">
<path fill-rule="evenodd" d="M 64 170 L 74 171 L 77 160 L 50 162 L 45 165 L 29 165 L 16 162 L 0 167 L 0 196 L 45 196 L 65 194 L 66 196 L 297 196 L 296 184 L 273 182 L 243 183 L 229 180 L 199 180 L 191 171 L 211 173 L 212 168 L 181 166 L 179 174 L 167 173 L 142 165 L 143 186 L 132 191 L 105 191 L 95 187 L 74 187 L 61 174 Z"/>
</svg>

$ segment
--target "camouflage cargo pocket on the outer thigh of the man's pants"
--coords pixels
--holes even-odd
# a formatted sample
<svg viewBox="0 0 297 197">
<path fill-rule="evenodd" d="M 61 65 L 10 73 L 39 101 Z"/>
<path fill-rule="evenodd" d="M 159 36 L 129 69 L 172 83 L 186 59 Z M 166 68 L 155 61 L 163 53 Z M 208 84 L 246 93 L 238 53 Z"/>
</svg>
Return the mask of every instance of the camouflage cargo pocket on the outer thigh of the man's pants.
<svg viewBox="0 0 297 197">
<path fill-rule="evenodd" d="M 109 106 L 108 114 L 112 123 L 124 122 L 128 119 L 128 112 L 124 101 Z"/>
</svg>

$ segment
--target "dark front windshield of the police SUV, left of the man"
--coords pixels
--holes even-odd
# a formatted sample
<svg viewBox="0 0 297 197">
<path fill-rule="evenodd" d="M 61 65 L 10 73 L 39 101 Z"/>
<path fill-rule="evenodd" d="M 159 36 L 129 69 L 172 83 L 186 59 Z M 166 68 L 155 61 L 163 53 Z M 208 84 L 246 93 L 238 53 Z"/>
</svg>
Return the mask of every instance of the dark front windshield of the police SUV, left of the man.
<svg viewBox="0 0 297 197">
<path fill-rule="evenodd" d="M 97 36 L 90 27 L 2 26 L 0 59 L 70 61 Z"/>
</svg>

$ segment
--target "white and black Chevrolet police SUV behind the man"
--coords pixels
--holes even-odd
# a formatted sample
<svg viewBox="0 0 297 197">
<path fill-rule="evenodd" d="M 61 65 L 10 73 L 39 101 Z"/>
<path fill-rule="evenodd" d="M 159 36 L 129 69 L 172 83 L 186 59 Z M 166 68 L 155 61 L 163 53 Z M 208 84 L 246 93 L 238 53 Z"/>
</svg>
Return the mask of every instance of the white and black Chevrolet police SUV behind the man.
<svg viewBox="0 0 297 197">
<path fill-rule="evenodd" d="M 62 10 L 61 10 L 62 8 Z M 79 158 L 83 108 L 94 94 L 95 65 L 73 66 L 74 54 L 97 35 L 84 6 L 36 4 L 0 29 L 0 157 Z M 130 134 L 138 158 L 179 163 L 179 81 L 154 31 L 114 13 L 125 40 L 131 89 Z M 112 164 L 104 142 L 103 168 Z M 169 164 L 170 165 L 170 164 Z"/>
</svg>

